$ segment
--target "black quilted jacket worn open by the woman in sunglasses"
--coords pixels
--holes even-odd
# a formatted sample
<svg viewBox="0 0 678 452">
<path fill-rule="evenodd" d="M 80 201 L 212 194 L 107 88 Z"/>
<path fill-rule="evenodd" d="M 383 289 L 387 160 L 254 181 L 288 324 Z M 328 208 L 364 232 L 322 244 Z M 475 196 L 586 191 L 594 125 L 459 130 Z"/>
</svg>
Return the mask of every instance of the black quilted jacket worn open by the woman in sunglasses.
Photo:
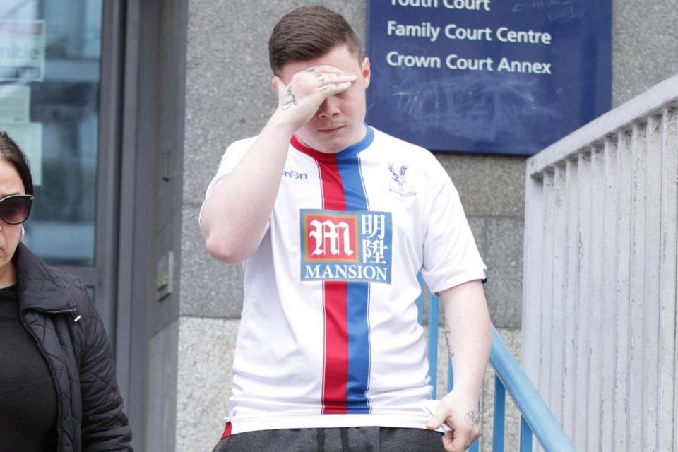
<svg viewBox="0 0 678 452">
<path fill-rule="evenodd" d="M 111 344 L 82 281 L 19 244 L 19 308 L 57 388 L 57 452 L 131 451 Z"/>
</svg>

